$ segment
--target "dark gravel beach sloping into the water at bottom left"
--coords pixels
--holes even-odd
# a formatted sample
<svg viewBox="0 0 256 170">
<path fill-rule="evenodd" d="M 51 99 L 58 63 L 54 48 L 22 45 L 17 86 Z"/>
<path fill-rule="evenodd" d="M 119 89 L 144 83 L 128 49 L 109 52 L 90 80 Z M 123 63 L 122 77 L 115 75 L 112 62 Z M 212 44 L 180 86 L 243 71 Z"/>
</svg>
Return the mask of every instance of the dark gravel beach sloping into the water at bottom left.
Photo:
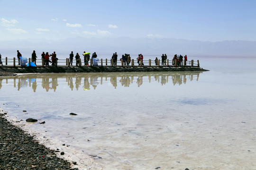
<svg viewBox="0 0 256 170">
<path fill-rule="evenodd" d="M 78 170 L 0 113 L 0 170 Z"/>
</svg>

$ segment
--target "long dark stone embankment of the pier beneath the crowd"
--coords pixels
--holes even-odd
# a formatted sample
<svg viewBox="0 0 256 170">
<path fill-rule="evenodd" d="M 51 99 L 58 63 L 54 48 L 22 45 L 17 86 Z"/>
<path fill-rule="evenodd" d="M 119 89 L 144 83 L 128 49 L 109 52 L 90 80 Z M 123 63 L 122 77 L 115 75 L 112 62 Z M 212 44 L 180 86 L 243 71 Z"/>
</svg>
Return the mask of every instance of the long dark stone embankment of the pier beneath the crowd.
<svg viewBox="0 0 256 170">
<path fill-rule="evenodd" d="M 164 72 L 164 71 L 209 71 L 199 67 L 0 67 L 0 76 L 15 76 L 18 73 L 96 73 L 96 72 Z"/>
</svg>

